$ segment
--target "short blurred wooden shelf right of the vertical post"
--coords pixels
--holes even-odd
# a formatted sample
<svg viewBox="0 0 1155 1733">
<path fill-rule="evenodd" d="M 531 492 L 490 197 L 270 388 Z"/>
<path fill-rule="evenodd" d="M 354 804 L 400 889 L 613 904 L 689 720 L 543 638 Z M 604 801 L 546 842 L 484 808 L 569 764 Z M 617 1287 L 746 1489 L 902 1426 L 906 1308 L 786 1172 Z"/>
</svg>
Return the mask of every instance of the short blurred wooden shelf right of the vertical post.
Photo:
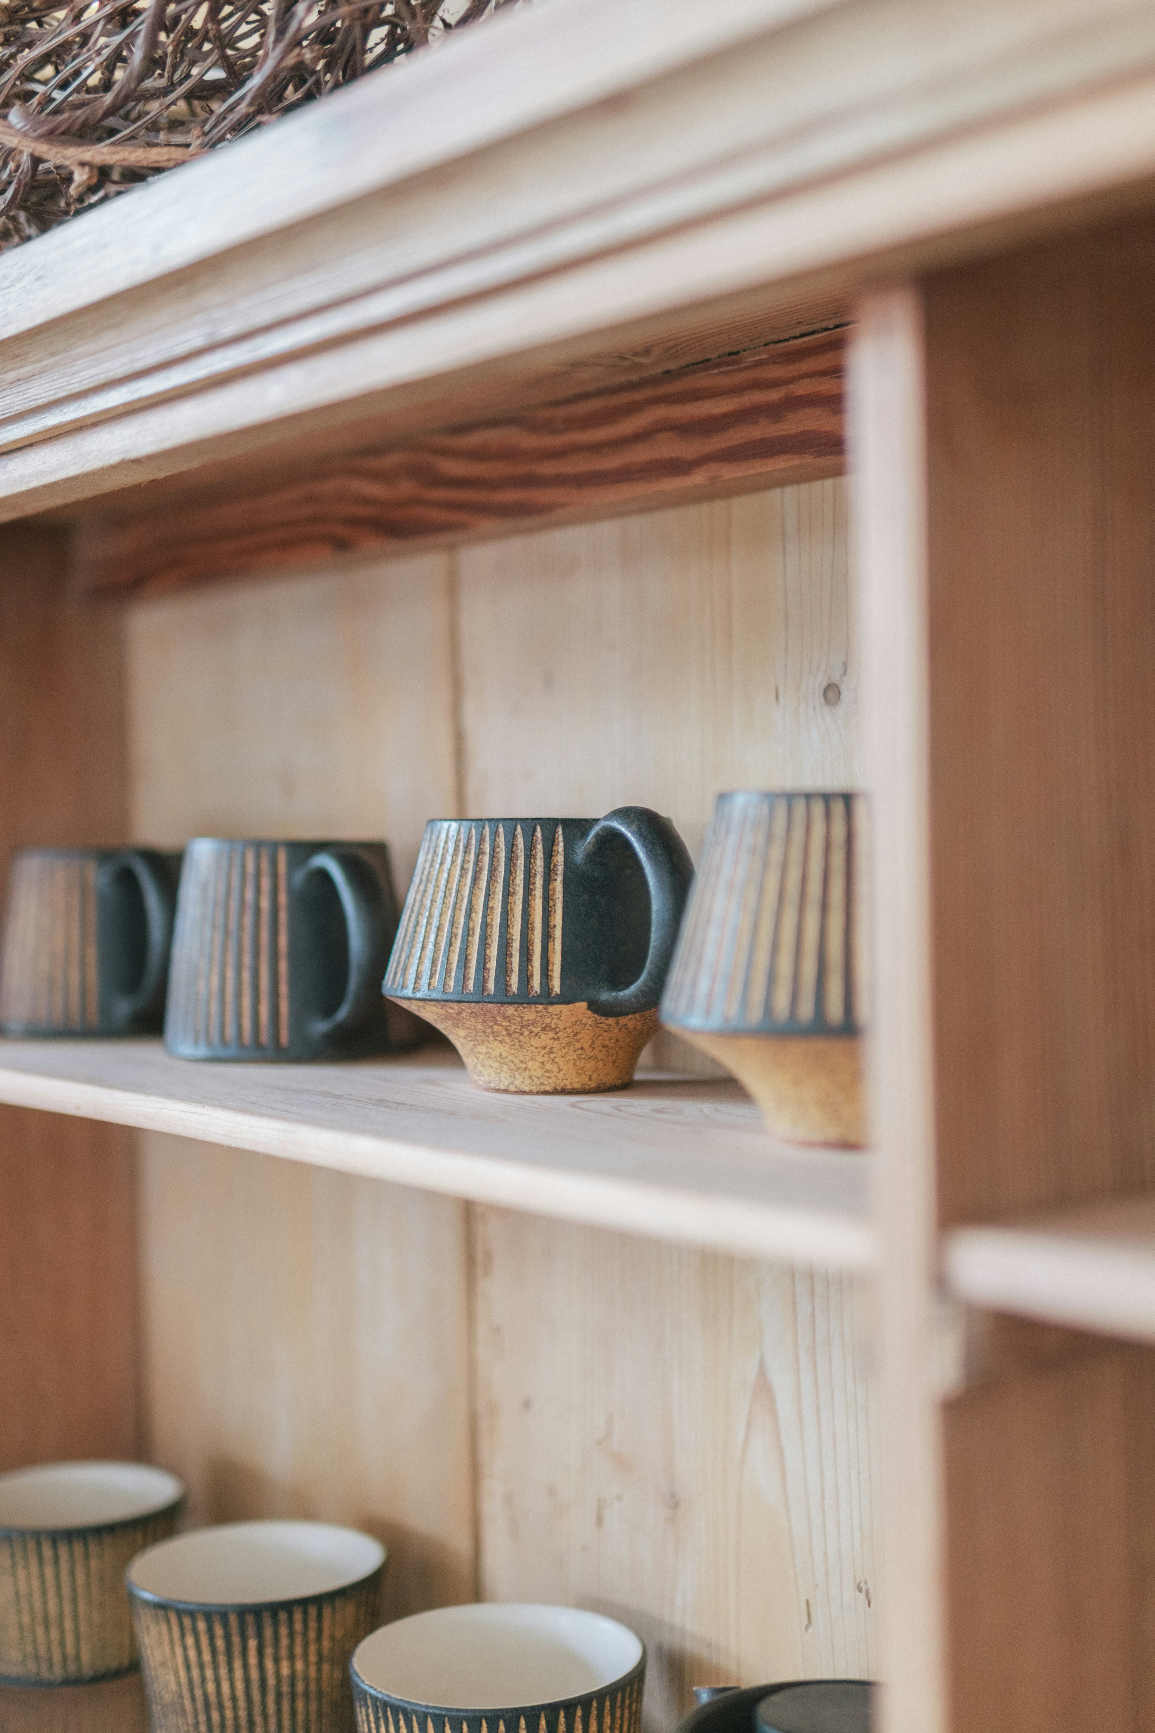
<svg viewBox="0 0 1155 1733">
<path fill-rule="evenodd" d="M 956 1300 L 1075 1329 L 1155 1341 L 1155 1198 L 1122 1198 L 945 1239 Z"/>
</svg>

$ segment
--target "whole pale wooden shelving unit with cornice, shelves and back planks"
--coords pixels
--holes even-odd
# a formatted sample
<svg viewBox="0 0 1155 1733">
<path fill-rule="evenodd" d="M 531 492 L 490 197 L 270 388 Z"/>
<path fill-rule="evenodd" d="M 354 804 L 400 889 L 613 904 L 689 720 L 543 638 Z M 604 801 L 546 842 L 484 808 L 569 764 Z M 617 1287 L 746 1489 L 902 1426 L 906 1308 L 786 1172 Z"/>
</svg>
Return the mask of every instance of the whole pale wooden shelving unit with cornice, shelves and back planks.
<svg viewBox="0 0 1155 1733">
<path fill-rule="evenodd" d="M 648 1733 L 1155 1726 L 1153 102 L 1134 0 L 547 0 L 0 260 L 3 849 L 864 787 L 876 887 L 871 1156 L 5 1043 L 0 1463 L 610 1610 Z"/>
</svg>

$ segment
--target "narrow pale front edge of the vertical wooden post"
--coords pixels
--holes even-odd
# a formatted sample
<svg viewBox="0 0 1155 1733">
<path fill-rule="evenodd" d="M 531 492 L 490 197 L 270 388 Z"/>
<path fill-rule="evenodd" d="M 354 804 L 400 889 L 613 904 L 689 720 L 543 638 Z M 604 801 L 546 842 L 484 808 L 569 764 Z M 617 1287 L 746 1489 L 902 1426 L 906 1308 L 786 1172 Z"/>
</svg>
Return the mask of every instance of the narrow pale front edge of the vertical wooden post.
<svg viewBox="0 0 1155 1733">
<path fill-rule="evenodd" d="M 923 317 L 916 289 L 859 307 L 849 437 L 874 846 L 871 1114 L 880 1149 L 885 1733 L 947 1733 L 945 1492 L 933 1390 L 937 1185 Z"/>
</svg>

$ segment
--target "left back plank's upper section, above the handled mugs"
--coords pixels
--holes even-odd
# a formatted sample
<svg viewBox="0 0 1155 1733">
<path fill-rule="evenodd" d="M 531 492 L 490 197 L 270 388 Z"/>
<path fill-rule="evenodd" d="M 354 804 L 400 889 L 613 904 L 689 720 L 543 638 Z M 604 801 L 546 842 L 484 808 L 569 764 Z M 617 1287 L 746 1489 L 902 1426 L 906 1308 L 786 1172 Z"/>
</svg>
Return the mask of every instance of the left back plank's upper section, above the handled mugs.
<svg viewBox="0 0 1155 1733">
<path fill-rule="evenodd" d="M 130 608 L 135 834 L 384 837 L 403 896 L 457 801 L 450 584 L 423 555 Z"/>
</svg>

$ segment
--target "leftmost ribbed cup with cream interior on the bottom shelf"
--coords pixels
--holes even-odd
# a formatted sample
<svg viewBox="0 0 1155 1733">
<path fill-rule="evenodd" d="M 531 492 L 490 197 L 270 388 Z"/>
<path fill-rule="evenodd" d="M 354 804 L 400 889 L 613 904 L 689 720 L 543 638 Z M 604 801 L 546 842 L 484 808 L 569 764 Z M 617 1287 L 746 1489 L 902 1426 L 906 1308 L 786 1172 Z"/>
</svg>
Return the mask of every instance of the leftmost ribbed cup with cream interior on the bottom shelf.
<svg viewBox="0 0 1155 1733">
<path fill-rule="evenodd" d="M 0 1681 L 80 1684 L 137 1664 L 125 1567 L 170 1535 L 184 1487 L 144 1463 L 0 1475 Z"/>
</svg>

